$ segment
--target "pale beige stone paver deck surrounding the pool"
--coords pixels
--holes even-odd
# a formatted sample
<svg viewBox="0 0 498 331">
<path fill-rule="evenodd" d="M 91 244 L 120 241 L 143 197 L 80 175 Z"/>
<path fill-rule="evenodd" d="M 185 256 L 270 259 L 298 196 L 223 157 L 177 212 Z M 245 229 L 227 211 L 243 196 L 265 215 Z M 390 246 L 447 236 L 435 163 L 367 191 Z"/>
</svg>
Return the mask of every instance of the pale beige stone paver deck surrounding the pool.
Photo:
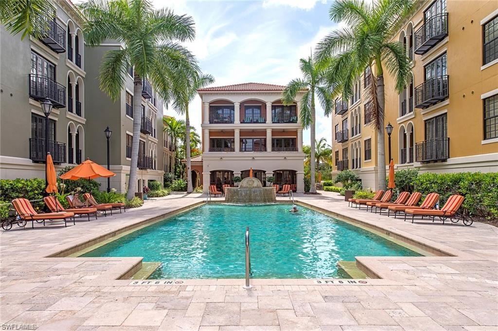
<svg viewBox="0 0 498 331">
<path fill-rule="evenodd" d="M 206 199 L 173 194 L 123 214 L 77 219 L 67 228 L 35 224 L 34 230 L 14 225 L 2 231 L 0 325 L 37 330 L 498 329 L 496 227 L 411 224 L 349 208 L 343 197 L 322 193 L 296 194 L 295 199 L 447 256 L 358 257 L 357 264 L 379 279 L 328 284 L 255 279 L 251 290 L 242 288 L 243 279 L 168 285 L 118 279 L 136 271 L 138 257 L 47 257 Z"/>
</svg>

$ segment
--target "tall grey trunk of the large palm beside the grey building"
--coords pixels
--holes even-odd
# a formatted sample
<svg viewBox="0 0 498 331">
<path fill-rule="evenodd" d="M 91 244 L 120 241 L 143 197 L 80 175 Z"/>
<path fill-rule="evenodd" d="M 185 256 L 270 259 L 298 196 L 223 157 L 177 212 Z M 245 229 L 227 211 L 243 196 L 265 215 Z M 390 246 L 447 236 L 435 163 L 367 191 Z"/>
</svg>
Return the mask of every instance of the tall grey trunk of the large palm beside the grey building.
<svg viewBox="0 0 498 331">
<path fill-rule="evenodd" d="M 131 162 L 129 165 L 128 192 L 126 199 L 135 196 L 136 170 L 138 165 L 138 146 L 140 142 L 140 125 L 142 123 L 142 79 L 135 75 L 133 81 L 133 141 L 131 143 Z M 141 187 L 137 187 L 141 191 Z"/>
</svg>

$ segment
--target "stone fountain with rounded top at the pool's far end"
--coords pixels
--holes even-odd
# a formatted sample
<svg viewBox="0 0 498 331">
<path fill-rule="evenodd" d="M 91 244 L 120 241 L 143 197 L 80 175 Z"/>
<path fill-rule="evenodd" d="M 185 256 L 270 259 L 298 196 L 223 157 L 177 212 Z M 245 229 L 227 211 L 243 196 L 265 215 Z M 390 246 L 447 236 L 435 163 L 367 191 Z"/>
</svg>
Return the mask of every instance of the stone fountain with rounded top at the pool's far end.
<svg viewBox="0 0 498 331">
<path fill-rule="evenodd" d="M 263 187 L 255 177 L 244 178 L 239 187 L 225 188 L 225 201 L 231 203 L 276 202 L 275 187 Z"/>
</svg>

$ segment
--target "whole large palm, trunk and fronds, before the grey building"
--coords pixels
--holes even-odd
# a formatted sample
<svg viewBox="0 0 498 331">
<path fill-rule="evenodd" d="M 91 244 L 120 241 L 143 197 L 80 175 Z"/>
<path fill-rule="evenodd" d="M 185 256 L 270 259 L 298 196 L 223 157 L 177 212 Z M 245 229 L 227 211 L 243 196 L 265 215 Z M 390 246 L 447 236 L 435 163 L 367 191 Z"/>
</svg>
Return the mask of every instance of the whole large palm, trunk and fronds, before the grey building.
<svg viewBox="0 0 498 331">
<path fill-rule="evenodd" d="M 80 5 L 86 18 L 83 32 L 89 46 L 117 40 L 120 49 L 108 51 L 100 67 L 100 88 L 113 100 L 124 89 L 128 67 L 133 68 L 133 142 L 127 199 L 134 196 L 141 124 L 142 80 L 148 79 L 166 101 L 182 83 L 181 75 L 195 75 L 193 55 L 174 42 L 193 40 L 194 21 L 167 9 L 156 10 L 147 0 L 89 0 Z"/>
</svg>

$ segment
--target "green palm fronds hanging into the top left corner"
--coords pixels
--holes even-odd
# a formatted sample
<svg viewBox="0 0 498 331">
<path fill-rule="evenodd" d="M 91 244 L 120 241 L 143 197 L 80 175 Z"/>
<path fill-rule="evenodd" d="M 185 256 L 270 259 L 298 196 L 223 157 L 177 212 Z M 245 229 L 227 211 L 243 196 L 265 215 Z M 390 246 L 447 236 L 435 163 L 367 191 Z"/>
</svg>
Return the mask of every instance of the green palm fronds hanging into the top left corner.
<svg viewBox="0 0 498 331">
<path fill-rule="evenodd" d="M 2 0 L 0 23 L 12 34 L 22 32 L 36 39 L 47 31 L 49 21 L 55 18 L 55 8 L 50 0 Z"/>
</svg>

